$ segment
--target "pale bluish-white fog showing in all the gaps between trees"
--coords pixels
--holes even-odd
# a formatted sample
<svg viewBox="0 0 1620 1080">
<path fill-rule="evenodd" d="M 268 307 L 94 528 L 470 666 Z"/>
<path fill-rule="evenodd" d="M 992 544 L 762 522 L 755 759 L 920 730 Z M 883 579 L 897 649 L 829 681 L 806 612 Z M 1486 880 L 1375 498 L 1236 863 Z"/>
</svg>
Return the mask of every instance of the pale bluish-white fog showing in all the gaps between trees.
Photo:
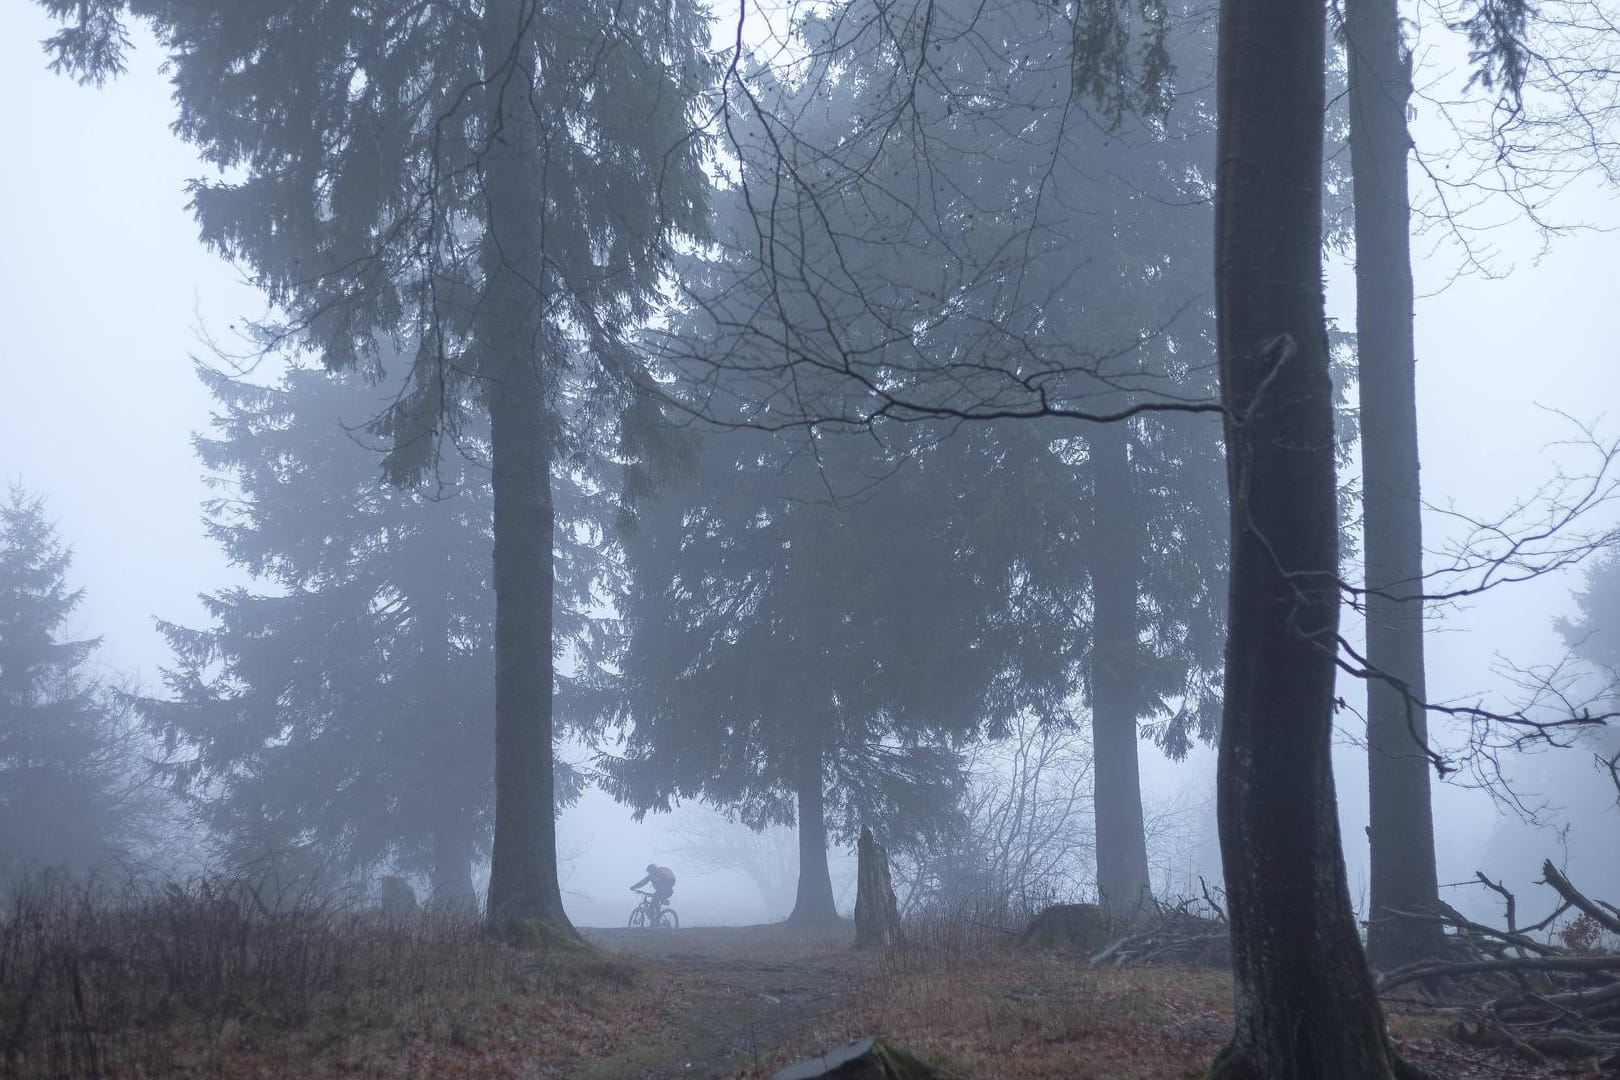
<svg viewBox="0 0 1620 1080">
<path fill-rule="evenodd" d="M 5 206 L 0 269 L 6 363 L 0 390 L 0 473 L 45 497 L 50 520 L 73 549 L 70 580 L 86 599 L 66 630 L 97 636 L 96 664 L 109 675 L 159 690 L 172 665 L 154 619 L 204 625 L 202 591 L 245 585 L 202 528 L 209 497 L 191 437 L 206 432 L 207 390 L 193 358 L 215 348 L 251 356 L 238 332 L 262 314 L 259 293 L 206 251 L 186 210 L 185 183 L 207 167 L 168 134 L 173 105 L 157 66 L 160 55 L 138 39 L 133 65 L 115 91 L 76 86 L 52 74 L 37 42 L 50 32 L 36 5 L 0 11 L 0 96 L 26 107 L 10 113 L 8 152 L 0 162 Z M 1419 117 L 1419 141 L 1424 117 Z M 1557 202 L 1563 220 L 1612 227 L 1614 193 L 1575 189 Z M 1503 212 L 1503 217 L 1508 217 Z M 1458 256 L 1443 238 L 1418 248 L 1418 395 L 1426 500 L 1426 546 L 1445 551 L 1463 538 L 1442 513 L 1490 518 L 1531 499 L 1560 466 L 1584 463 L 1558 444 L 1589 426 L 1620 436 L 1620 355 L 1614 319 L 1614 267 L 1620 233 L 1571 232 L 1544 244 L 1529 225 L 1507 220 L 1490 243 L 1497 277 L 1458 277 Z M 1340 259 L 1327 280 L 1328 314 L 1354 324 L 1353 275 Z M 251 372 L 271 382 L 279 372 Z M 364 416 L 352 416 L 363 423 Z M 1554 664 L 1567 653 L 1555 630 L 1575 615 L 1583 568 L 1507 585 L 1432 617 L 1429 688 L 1439 701 L 1511 699 L 1497 670 Z M 1353 631 L 1354 636 L 1354 631 Z M 1364 691 L 1341 678 L 1348 706 L 1338 717 L 1335 755 L 1340 818 L 1351 894 L 1366 904 L 1366 758 L 1356 742 Z M 1609 737 L 1612 742 L 1612 735 Z M 1196 746 L 1183 763 L 1142 743 L 1142 790 L 1149 816 L 1187 806 L 1165 882 L 1194 891 L 1217 879 L 1213 750 Z M 573 745 L 564 758 L 588 764 Z M 1620 897 L 1620 811 L 1586 748 L 1542 751 L 1505 764 L 1539 823 L 1526 823 L 1502 800 L 1469 787 L 1464 772 L 1435 784 L 1439 866 L 1443 899 L 1473 916 L 1498 904 L 1468 886 L 1476 871 L 1505 881 L 1528 908 L 1549 907 L 1541 860 L 1567 865 L 1591 894 Z M 688 800 L 690 801 L 690 800 Z M 714 813 L 684 805 L 671 814 L 632 821 L 630 810 L 586 789 L 557 824 L 564 904 L 577 925 L 620 925 L 633 897 L 627 886 L 648 861 L 679 874 L 674 905 L 685 925 L 779 920 L 792 891 L 766 895 L 739 870 L 701 866 L 692 837 Z M 742 829 L 742 826 L 729 826 Z M 792 837 L 773 834 L 789 852 Z M 1171 850 L 1173 848 L 1173 850 Z M 1168 853 L 1165 853 L 1168 852 Z M 849 850 L 834 852 L 834 892 L 854 904 Z M 481 882 L 483 879 L 480 879 Z M 787 907 L 784 907 L 784 904 Z"/>
</svg>

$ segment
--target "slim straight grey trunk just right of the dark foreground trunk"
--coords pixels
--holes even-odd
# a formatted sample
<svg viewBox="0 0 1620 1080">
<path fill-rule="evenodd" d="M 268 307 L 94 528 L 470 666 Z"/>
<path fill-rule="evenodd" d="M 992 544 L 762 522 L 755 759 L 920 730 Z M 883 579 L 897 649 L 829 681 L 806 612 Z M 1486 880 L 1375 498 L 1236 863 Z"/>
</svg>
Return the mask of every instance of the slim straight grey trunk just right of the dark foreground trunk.
<svg viewBox="0 0 1620 1080">
<path fill-rule="evenodd" d="M 1367 580 L 1367 959 L 1395 967 L 1443 947 L 1439 923 L 1383 921 L 1440 900 L 1429 803 L 1422 659 L 1422 507 L 1413 348 L 1408 58 L 1395 0 L 1345 0 L 1349 162 L 1356 191 L 1356 337 Z M 1387 675 L 1388 682 L 1380 675 Z"/>
</svg>

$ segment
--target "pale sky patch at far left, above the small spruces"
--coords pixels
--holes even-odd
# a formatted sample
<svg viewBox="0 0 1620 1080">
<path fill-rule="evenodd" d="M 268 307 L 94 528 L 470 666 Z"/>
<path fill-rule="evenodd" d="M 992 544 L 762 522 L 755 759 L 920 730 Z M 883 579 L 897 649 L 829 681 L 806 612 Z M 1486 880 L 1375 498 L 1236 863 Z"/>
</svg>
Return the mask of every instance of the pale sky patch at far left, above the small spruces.
<svg viewBox="0 0 1620 1080">
<path fill-rule="evenodd" d="M 5 381 L 0 474 L 45 494 L 87 597 L 79 625 L 102 659 L 156 677 L 152 615 L 196 619 L 193 594 L 228 583 L 202 536 L 191 432 L 209 397 L 193 376 L 199 325 L 227 332 L 254 290 L 196 243 L 183 185 L 202 175 L 168 134 L 160 57 L 105 91 L 45 70 L 32 3 L 0 13 Z"/>
</svg>

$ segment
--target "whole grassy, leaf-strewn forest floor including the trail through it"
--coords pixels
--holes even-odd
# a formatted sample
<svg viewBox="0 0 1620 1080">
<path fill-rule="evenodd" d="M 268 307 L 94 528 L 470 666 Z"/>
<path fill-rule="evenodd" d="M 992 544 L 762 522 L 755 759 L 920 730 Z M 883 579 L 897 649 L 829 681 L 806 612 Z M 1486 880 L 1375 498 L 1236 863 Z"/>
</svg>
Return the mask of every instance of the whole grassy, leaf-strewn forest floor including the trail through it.
<svg viewBox="0 0 1620 1080">
<path fill-rule="evenodd" d="M 0 1077 L 577 1077 L 768 1080 L 885 1035 L 951 1077 L 1199 1077 L 1231 1030 L 1231 980 L 1087 968 L 972 921 L 857 952 L 846 926 L 586 929 L 514 944 L 471 918 L 228 895 L 144 905 L 19 899 L 0 912 Z M 1453 1041 L 1395 1015 L 1442 1077 L 1596 1077 Z"/>
</svg>

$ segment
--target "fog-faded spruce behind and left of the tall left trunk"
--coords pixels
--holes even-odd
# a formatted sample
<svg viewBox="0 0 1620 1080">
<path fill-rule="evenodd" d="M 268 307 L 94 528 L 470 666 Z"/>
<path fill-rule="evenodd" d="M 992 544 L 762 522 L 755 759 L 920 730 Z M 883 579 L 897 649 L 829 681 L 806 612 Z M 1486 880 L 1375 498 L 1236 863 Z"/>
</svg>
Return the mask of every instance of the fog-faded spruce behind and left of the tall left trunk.
<svg viewBox="0 0 1620 1080">
<path fill-rule="evenodd" d="M 238 868 L 423 873 L 468 907 L 491 829 L 494 602 L 488 470 L 463 439 L 431 491 L 377 473 L 382 390 L 290 369 L 202 369 L 209 534 L 253 588 L 204 594 L 206 628 L 159 623 L 168 699 L 141 711 L 168 777 Z"/>
</svg>

